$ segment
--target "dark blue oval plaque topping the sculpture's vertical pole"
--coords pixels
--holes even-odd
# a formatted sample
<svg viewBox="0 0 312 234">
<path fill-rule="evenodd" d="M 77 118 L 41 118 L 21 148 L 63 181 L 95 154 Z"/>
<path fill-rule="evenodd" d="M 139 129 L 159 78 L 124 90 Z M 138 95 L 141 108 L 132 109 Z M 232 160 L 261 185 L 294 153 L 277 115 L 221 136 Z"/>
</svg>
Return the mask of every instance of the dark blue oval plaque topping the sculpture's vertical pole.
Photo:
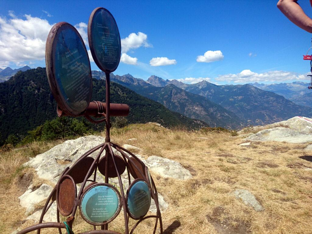
<svg viewBox="0 0 312 234">
<path fill-rule="evenodd" d="M 104 72 L 115 71 L 121 54 L 120 35 L 115 19 L 107 9 L 98 7 L 91 13 L 88 40 L 96 65 Z"/>
</svg>

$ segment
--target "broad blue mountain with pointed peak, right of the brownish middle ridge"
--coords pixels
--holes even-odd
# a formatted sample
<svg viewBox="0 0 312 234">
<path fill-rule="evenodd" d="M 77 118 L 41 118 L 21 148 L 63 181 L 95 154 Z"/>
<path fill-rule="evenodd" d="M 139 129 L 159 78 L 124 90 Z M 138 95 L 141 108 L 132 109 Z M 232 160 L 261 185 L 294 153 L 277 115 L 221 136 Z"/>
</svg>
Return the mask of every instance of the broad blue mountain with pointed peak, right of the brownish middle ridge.
<svg viewBox="0 0 312 234">
<path fill-rule="evenodd" d="M 297 115 L 311 117 L 312 108 L 297 105 L 273 92 L 258 89 L 252 85 L 214 85 L 202 81 L 188 85 L 191 93 L 207 97 L 209 100 L 232 111 L 241 119 L 257 119 L 262 122 L 281 121 Z"/>
</svg>

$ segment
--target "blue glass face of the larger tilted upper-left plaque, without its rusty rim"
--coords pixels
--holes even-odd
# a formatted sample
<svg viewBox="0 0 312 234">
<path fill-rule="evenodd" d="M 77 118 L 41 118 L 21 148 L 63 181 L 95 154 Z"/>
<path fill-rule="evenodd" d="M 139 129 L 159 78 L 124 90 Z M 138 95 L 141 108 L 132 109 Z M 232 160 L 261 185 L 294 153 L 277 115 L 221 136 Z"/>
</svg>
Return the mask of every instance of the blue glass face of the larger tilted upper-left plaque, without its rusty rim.
<svg viewBox="0 0 312 234">
<path fill-rule="evenodd" d="M 60 27 L 53 42 L 53 65 L 58 94 L 67 111 L 80 115 L 88 107 L 92 92 L 90 61 L 74 27 Z"/>
</svg>

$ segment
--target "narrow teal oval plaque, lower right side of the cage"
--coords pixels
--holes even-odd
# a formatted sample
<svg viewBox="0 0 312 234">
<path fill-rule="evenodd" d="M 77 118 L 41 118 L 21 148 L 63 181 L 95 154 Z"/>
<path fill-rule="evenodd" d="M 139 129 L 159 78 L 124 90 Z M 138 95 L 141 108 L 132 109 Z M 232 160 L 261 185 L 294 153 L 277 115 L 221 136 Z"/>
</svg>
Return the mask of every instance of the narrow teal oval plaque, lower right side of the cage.
<svg viewBox="0 0 312 234">
<path fill-rule="evenodd" d="M 134 180 L 127 190 L 127 210 L 133 219 L 141 219 L 149 211 L 151 192 L 142 179 Z"/>
</svg>

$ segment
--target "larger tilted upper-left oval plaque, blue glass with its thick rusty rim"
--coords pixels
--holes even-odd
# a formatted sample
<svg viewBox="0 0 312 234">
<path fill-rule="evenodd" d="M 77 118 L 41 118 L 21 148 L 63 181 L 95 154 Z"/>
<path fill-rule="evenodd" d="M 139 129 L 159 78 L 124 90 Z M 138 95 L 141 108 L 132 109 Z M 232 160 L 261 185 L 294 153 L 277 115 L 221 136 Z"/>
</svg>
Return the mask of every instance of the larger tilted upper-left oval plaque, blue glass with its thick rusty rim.
<svg viewBox="0 0 312 234">
<path fill-rule="evenodd" d="M 85 44 L 69 23 L 57 23 L 49 32 L 46 72 L 60 108 L 72 116 L 81 115 L 91 100 L 91 68 Z"/>
</svg>

